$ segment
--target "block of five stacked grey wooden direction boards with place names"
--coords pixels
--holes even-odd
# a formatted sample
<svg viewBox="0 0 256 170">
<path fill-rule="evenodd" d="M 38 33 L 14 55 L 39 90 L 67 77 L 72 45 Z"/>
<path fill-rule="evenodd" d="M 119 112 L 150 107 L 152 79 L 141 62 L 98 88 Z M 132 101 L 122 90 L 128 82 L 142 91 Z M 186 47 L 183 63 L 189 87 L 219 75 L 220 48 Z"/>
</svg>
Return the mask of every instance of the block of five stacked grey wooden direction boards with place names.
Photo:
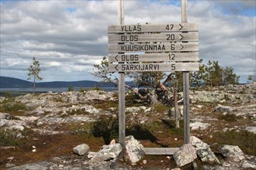
<svg viewBox="0 0 256 170">
<path fill-rule="evenodd" d="M 109 26 L 109 72 L 198 71 L 198 29 L 192 23 Z"/>
</svg>

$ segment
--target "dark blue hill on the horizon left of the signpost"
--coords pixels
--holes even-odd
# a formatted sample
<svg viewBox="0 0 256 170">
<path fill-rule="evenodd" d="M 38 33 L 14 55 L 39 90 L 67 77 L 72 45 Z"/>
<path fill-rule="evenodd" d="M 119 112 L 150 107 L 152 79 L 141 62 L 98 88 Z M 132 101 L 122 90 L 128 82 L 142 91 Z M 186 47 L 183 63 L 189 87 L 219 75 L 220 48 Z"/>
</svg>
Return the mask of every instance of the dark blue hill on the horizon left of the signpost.
<svg viewBox="0 0 256 170">
<path fill-rule="evenodd" d="M 97 81 L 53 81 L 53 82 L 43 82 L 43 83 L 36 83 L 36 87 L 115 87 L 114 84 L 106 84 L 100 83 Z M 20 80 L 16 78 L 12 78 L 9 76 L 0 76 L 0 88 L 29 88 L 33 87 L 33 83 Z"/>
</svg>

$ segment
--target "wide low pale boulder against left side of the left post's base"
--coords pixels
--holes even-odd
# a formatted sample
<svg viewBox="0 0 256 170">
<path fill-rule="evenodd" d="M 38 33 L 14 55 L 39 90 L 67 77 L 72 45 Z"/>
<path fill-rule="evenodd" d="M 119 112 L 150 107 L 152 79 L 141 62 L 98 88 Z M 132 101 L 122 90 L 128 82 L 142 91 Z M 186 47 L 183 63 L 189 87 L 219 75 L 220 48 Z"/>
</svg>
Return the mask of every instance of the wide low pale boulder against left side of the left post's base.
<svg viewBox="0 0 256 170">
<path fill-rule="evenodd" d="M 117 158 L 122 151 L 122 146 L 120 144 L 115 145 L 104 145 L 102 150 L 93 155 L 93 161 L 106 161 L 111 158 Z"/>
</svg>

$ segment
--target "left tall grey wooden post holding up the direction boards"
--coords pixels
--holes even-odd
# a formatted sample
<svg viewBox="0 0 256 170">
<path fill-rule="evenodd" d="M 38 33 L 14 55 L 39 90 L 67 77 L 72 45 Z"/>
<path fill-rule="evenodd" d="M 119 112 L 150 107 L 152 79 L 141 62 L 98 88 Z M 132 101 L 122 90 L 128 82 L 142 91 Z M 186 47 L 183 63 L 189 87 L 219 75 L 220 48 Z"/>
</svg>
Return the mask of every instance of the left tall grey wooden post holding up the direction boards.
<svg viewBox="0 0 256 170">
<path fill-rule="evenodd" d="M 123 16 L 123 0 L 119 0 L 118 5 L 118 24 L 124 24 Z M 123 151 L 120 153 L 119 158 L 124 158 L 124 151 L 126 147 L 126 115 L 125 115 L 125 79 L 124 73 L 119 72 L 119 144 L 122 145 Z"/>
</svg>

